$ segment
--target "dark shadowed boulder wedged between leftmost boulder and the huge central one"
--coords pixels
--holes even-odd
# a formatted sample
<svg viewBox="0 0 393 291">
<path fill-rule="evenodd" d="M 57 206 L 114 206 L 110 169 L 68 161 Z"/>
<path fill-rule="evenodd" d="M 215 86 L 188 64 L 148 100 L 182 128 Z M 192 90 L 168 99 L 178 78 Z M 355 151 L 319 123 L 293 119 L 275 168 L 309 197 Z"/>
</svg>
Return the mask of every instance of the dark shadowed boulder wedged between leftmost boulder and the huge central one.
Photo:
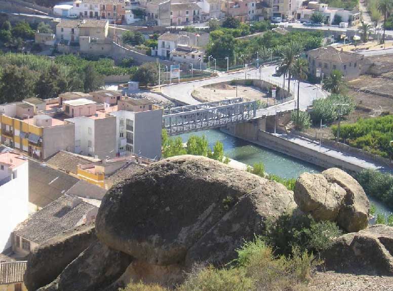
<svg viewBox="0 0 393 291">
<path fill-rule="evenodd" d="M 131 256 L 99 241 L 73 260 L 50 284 L 38 291 L 114 291 L 114 285 L 132 262 Z"/>
</svg>

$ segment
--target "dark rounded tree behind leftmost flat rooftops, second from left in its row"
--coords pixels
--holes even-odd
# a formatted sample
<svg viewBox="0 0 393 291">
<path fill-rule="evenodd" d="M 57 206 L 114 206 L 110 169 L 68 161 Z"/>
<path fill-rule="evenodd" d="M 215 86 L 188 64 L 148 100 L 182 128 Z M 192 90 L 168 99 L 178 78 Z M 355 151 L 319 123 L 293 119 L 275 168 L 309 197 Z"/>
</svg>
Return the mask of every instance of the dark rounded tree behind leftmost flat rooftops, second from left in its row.
<svg viewBox="0 0 393 291">
<path fill-rule="evenodd" d="M 59 72 L 57 65 L 41 73 L 35 83 L 34 93 L 41 99 L 56 98 L 67 89 L 67 80 Z"/>
</svg>

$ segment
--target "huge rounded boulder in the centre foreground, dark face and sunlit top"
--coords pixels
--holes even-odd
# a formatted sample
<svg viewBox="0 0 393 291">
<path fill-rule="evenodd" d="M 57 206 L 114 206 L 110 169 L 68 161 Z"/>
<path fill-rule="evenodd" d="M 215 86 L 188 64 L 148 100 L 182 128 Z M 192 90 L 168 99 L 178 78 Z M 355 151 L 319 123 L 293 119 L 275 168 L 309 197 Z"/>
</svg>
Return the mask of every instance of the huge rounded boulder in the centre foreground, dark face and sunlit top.
<svg viewBox="0 0 393 291">
<path fill-rule="evenodd" d="M 267 218 L 295 207 L 282 184 L 186 155 L 151 164 L 112 187 L 96 229 L 102 243 L 149 270 L 219 265 L 260 233 Z"/>
</svg>

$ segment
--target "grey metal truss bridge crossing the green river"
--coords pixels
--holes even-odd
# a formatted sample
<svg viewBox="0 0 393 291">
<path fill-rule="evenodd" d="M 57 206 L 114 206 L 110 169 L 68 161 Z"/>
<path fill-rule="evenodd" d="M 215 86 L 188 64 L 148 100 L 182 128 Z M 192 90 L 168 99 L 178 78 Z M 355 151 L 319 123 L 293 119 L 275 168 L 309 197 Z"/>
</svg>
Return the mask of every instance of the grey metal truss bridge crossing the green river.
<svg viewBox="0 0 393 291">
<path fill-rule="evenodd" d="M 256 101 L 242 98 L 165 109 L 163 128 L 169 135 L 222 127 L 256 118 Z"/>
</svg>

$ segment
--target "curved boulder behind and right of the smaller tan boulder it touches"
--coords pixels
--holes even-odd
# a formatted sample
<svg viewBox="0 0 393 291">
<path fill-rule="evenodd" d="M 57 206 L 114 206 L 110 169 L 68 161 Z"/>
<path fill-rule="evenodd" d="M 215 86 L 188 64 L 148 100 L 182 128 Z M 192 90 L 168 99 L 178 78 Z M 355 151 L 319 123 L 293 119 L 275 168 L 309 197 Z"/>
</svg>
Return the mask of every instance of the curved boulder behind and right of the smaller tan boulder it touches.
<svg viewBox="0 0 393 291">
<path fill-rule="evenodd" d="M 322 172 L 330 183 L 337 183 L 345 190 L 337 223 L 348 232 L 356 232 L 368 225 L 370 202 L 363 187 L 344 171 L 331 168 Z"/>
</svg>

